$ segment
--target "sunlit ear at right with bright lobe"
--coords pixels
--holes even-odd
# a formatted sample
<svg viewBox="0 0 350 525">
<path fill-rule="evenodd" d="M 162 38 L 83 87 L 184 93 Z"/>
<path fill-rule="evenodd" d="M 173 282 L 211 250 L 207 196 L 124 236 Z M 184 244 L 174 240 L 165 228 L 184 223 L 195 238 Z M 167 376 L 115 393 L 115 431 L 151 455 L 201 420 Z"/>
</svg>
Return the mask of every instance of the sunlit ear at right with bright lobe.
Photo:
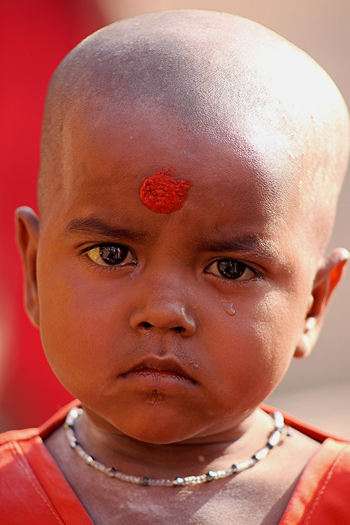
<svg viewBox="0 0 350 525">
<path fill-rule="evenodd" d="M 303 358 L 310 354 L 319 337 L 324 314 L 332 293 L 343 277 L 349 257 L 350 254 L 345 248 L 336 248 L 327 255 L 317 271 L 304 323 L 304 331 L 294 352 L 295 358 Z"/>
</svg>

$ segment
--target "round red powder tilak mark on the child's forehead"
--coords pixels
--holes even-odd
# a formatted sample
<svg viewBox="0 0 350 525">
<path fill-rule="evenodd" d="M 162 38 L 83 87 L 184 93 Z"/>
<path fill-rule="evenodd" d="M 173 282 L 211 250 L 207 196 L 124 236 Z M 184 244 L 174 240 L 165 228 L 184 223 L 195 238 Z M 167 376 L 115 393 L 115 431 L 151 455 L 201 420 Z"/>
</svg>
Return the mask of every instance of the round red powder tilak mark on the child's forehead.
<svg viewBox="0 0 350 525">
<path fill-rule="evenodd" d="M 140 198 L 152 212 L 178 212 L 187 201 L 192 186 L 192 181 L 175 181 L 171 168 L 167 172 L 161 168 L 143 181 Z"/>
</svg>

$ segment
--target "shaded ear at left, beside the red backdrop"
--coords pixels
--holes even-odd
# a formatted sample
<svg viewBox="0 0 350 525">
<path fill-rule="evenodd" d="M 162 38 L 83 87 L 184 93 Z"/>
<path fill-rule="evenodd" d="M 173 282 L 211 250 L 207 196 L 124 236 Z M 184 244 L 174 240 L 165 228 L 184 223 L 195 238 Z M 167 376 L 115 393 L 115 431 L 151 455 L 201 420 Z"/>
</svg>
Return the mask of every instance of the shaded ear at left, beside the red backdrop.
<svg viewBox="0 0 350 525">
<path fill-rule="evenodd" d="M 39 328 L 39 301 L 36 281 L 36 254 L 39 239 L 39 218 L 33 209 L 16 209 L 16 236 L 25 272 L 25 304 L 31 322 Z"/>
</svg>

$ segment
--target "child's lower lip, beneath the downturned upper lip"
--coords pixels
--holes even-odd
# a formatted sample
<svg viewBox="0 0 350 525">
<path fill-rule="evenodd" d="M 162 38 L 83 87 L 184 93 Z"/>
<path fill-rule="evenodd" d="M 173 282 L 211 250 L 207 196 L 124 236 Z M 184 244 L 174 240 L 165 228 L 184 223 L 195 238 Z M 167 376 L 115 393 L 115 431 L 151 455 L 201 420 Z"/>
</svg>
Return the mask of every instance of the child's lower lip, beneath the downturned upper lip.
<svg viewBox="0 0 350 525">
<path fill-rule="evenodd" d="M 191 381 L 187 377 L 171 370 L 145 368 L 119 377 L 124 381 L 132 381 L 140 386 L 153 388 L 154 390 L 176 390 L 196 385 L 195 381 Z"/>
</svg>

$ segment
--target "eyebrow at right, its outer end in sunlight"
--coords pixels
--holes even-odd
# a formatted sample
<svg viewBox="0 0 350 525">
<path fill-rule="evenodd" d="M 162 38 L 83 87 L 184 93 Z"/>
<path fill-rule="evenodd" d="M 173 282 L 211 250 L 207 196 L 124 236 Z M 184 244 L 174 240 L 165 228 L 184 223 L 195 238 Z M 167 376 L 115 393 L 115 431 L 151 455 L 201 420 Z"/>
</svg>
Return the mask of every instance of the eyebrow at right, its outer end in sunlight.
<svg viewBox="0 0 350 525">
<path fill-rule="evenodd" d="M 247 234 L 240 236 L 222 236 L 221 239 L 201 238 L 200 244 L 207 251 L 225 252 L 235 251 L 249 253 L 253 256 L 271 258 L 276 256 L 276 251 L 271 245 L 262 240 L 259 235 Z"/>
</svg>

